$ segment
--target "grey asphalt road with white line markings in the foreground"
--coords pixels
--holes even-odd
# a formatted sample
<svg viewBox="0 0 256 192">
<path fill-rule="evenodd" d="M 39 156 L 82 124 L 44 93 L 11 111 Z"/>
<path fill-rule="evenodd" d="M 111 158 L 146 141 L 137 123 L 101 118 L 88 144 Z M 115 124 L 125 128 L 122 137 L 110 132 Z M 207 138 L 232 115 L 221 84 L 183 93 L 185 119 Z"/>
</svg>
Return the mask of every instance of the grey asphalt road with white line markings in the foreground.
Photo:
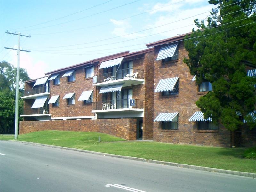
<svg viewBox="0 0 256 192">
<path fill-rule="evenodd" d="M 1 192 L 255 191 L 256 179 L 0 141 Z"/>
</svg>

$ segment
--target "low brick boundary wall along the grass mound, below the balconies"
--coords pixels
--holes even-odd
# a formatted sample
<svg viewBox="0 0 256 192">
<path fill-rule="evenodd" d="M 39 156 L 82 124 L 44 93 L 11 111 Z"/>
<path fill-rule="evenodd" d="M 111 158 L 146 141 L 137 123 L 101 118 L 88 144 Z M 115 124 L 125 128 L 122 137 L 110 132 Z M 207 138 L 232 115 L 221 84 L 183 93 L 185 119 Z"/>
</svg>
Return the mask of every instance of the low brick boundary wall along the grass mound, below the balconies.
<svg viewBox="0 0 256 192">
<path fill-rule="evenodd" d="M 136 119 L 20 121 L 19 134 L 42 130 L 101 132 L 136 140 Z"/>
</svg>

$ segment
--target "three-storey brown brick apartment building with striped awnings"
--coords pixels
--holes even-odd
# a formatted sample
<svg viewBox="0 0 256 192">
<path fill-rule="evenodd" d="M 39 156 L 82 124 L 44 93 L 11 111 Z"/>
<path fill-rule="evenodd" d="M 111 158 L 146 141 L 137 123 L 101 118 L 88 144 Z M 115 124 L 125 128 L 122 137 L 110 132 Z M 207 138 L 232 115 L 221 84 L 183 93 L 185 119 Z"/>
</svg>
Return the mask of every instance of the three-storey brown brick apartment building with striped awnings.
<svg viewBox="0 0 256 192">
<path fill-rule="evenodd" d="M 183 62 L 188 57 L 184 36 L 27 81 L 20 133 L 96 131 L 128 140 L 230 147 L 232 132 L 204 119 L 195 104 L 212 86 L 197 86 Z M 234 138 L 236 146 L 255 145 L 256 131 L 244 128 Z"/>
</svg>

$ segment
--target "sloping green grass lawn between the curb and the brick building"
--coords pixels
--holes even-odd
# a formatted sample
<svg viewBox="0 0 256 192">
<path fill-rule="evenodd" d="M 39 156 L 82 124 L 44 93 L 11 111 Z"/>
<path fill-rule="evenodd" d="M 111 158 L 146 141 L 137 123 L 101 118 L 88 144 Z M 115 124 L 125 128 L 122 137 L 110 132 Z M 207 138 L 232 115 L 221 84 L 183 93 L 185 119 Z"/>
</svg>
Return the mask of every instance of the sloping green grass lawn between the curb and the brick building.
<svg viewBox="0 0 256 192">
<path fill-rule="evenodd" d="M 98 142 L 99 136 L 101 137 L 100 143 Z M 13 140 L 14 136 L 0 136 L 0 139 Z M 247 148 L 220 148 L 148 141 L 125 141 L 122 138 L 103 133 L 71 131 L 32 132 L 19 135 L 18 140 L 256 173 L 256 161 L 243 158 L 244 151 Z"/>
</svg>

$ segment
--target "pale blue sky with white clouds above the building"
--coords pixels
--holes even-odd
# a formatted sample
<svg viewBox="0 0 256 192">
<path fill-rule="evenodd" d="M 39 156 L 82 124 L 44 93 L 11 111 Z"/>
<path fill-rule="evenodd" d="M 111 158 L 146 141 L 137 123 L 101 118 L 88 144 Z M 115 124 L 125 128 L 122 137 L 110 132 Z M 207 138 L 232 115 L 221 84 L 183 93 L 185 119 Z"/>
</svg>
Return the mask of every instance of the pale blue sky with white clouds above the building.
<svg viewBox="0 0 256 192">
<path fill-rule="evenodd" d="M 31 79 L 44 73 L 191 32 L 214 5 L 207 0 L 0 0 L 0 61 Z"/>
</svg>

